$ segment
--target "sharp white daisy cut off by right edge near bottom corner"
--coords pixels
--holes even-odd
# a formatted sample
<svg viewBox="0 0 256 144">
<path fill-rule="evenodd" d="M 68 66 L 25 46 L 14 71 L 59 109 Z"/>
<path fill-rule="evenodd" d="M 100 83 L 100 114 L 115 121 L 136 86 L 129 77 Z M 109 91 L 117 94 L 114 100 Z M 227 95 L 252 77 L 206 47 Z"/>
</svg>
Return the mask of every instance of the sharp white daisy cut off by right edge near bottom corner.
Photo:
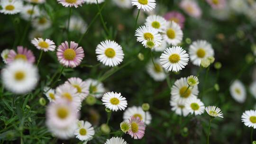
<svg viewBox="0 0 256 144">
<path fill-rule="evenodd" d="M 256 129 L 256 110 L 246 110 L 242 115 L 245 126 Z"/>
</svg>

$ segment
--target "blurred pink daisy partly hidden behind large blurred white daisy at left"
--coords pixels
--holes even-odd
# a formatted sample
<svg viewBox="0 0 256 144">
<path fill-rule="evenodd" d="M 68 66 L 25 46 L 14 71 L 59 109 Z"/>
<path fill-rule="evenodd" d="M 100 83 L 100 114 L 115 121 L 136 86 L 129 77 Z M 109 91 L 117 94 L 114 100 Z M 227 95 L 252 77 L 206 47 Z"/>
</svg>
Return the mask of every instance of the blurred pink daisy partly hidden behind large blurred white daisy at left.
<svg viewBox="0 0 256 144">
<path fill-rule="evenodd" d="M 18 46 L 17 51 L 18 53 L 16 53 L 14 50 L 10 50 L 8 58 L 6 59 L 7 63 L 11 63 L 15 60 L 23 60 L 27 61 L 28 63 L 35 62 L 35 56 L 33 52 L 28 50 L 26 47 Z"/>
</svg>

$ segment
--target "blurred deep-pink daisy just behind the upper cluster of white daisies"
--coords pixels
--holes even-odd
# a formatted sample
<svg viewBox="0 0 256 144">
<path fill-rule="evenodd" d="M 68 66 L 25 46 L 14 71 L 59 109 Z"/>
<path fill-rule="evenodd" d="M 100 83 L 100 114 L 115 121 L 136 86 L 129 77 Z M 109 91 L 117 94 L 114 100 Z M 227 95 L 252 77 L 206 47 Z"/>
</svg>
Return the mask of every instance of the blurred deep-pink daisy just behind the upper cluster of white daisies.
<svg viewBox="0 0 256 144">
<path fill-rule="evenodd" d="M 180 12 L 177 12 L 177 11 L 167 12 L 164 18 L 169 21 L 174 21 L 175 23 L 179 24 L 181 28 L 184 27 L 185 17 Z"/>
</svg>

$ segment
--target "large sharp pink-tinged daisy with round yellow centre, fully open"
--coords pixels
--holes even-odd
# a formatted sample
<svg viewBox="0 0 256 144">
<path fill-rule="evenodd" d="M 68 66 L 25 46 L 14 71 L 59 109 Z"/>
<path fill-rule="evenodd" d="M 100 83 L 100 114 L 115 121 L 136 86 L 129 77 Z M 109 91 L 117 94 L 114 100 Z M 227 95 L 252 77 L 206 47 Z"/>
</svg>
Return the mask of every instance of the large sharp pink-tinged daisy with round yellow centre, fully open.
<svg viewBox="0 0 256 144">
<path fill-rule="evenodd" d="M 71 41 L 69 46 L 68 42 L 65 41 L 58 46 L 57 57 L 64 66 L 74 68 L 82 62 L 84 52 L 81 46 L 78 47 L 77 43 Z"/>
</svg>

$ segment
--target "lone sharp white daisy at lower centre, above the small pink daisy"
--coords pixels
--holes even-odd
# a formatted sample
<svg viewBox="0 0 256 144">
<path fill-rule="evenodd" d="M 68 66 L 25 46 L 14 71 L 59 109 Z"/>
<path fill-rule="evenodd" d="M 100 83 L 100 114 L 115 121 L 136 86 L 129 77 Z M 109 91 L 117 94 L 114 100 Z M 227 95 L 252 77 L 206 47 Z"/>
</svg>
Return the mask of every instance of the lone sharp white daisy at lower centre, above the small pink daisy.
<svg viewBox="0 0 256 144">
<path fill-rule="evenodd" d="M 121 96 L 121 93 L 107 92 L 103 95 L 101 101 L 106 108 L 112 111 L 125 110 L 127 107 L 127 100 Z"/>
</svg>

